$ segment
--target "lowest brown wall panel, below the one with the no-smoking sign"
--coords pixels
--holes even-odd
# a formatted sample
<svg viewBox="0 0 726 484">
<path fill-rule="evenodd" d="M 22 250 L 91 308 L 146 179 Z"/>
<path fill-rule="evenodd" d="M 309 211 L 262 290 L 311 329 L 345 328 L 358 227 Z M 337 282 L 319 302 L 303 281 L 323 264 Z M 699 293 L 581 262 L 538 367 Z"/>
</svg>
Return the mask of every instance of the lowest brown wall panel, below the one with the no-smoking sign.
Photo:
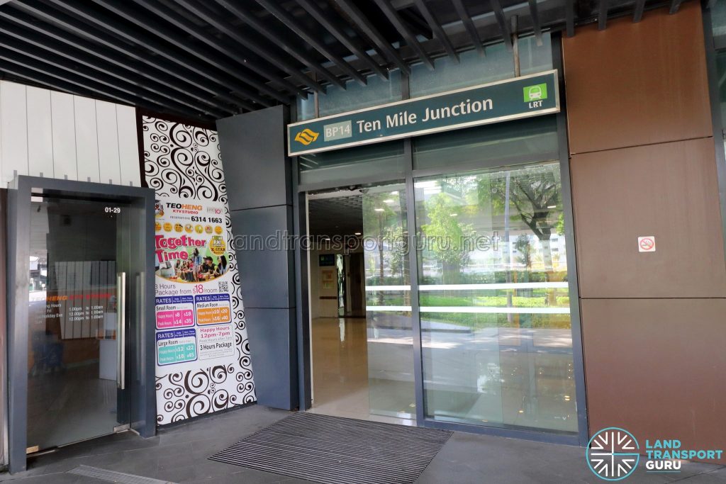
<svg viewBox="0 0 726 484">
<path fill-rule="evenodd" d="M 590 432 L 724 448 L 725 314 L 723 299 L 582 300 Z"/>
</svg>

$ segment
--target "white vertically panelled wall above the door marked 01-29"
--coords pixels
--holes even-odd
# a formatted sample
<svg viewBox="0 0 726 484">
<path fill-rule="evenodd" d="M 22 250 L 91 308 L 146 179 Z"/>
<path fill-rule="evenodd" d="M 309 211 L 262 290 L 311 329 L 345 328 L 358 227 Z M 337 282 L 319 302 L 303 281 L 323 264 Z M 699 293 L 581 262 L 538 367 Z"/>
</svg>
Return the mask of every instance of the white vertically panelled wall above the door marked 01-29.
<svg viewBox="0 0 726 484">
<path fill-rule="evenodd" d="M 0 81 L 0 186 L 16 172 L 141 186 L 135 108 Z"/>
</svg>

